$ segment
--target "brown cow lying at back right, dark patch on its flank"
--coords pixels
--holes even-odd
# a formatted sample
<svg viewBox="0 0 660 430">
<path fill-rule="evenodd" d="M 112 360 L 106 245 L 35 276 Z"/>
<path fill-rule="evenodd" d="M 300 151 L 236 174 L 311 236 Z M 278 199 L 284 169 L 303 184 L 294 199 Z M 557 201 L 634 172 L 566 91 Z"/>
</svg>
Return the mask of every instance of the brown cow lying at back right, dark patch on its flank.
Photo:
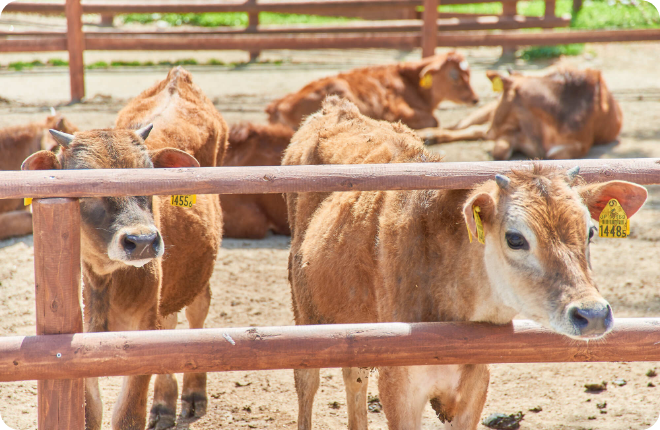
<svg viewBox="0 0 660 430">
<path fill-rule="evenodd" d="M 452 130 L 421 130 L 427 144 L 457 140 L 495 141 L 493 157 L 569 159 L 587 155 L 593 145 L 616 140 L 621 130 L 619 104 L 598 70 L 560 67 L 545 76 L 502 76 L 500 100 L 459 122 Z"/>
</svg>

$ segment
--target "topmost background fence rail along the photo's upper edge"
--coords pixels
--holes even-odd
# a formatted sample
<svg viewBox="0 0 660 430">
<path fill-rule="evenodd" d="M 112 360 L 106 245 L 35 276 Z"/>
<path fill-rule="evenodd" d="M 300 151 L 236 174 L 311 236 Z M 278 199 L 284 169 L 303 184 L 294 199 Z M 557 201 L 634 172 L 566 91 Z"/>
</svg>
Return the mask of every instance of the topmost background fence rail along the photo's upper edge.
<svg viewBox="0 0 660 430">
<path fill-rule="evenodd" d="M 443 5 L 471 3 L 507 3 L 517 0 L 445 0 Z M 83 13 L 201 13 L 201 12 L 282 12 L 322 13 L 337 9 L 374 10 L 422 6 L 423 0 L 118 0 L 83 1 Z M 64 13 L 64 2 L 13 1 L 2 12 Z"/>
</svg>

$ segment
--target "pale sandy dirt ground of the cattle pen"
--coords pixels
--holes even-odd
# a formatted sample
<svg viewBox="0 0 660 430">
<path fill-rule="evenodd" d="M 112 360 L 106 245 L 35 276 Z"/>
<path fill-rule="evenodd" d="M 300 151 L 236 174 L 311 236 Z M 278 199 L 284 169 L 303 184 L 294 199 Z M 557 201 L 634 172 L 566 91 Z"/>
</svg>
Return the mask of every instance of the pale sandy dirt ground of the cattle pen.
<svg viewBox="0 0 660 430">
<path fill-rule="evenodd" d="M 497 49 L 465 50 L 473 70 L 473 83 L 482 101 L 494 99 L 484 71 L 505 68 Z M 590 157 L 660 157 L 660 87 L 656 62 L 658 44 L 589 46 L 587 53 L 570 61 L 603 70 L 608 86 L 621 102 L 624 128 L 620 143 L 599 147 Z M 156 60 L 190 58 L 208 53 L 87 53 L 87 59 Z M 220 58 L 224 53 L 213 53 Z M 233 53 L 231 55 L 238 55 Z M 240 55 L 243 55 L 241 53 Z M 324 51 L 296 53 L 273 51 L 265 58 L 284 59 L 276 66 L 248 65 L 190 67 L 195 81 L 214 101 L 229 123 L 266 122 L 265 105 L 275 97 L 295 91 L 306 82 L 358 65 L 418 58 L 418 52 Z M 246 56 L 246 55 L 245 55 Z M 51 58 L 52 55 L 0 56 L 0 63 Z M 536 73 L 548 63 L 515 64 Z M 66 106 L 66 70 L 41 69 L 0 72 L 0 126 L 41 120 L 49 106 L 56 106 L 82 129 L 113 125 L 119 109 L 139 91 L 162 79 L 165 68 L 111 69 L 87 73 L 88 100 Z M 465 115 L 468 107 L 443 104 L 437 112 L 445 123 Z M 491 160 L 491 142 L 455 143 L 436 148 L 446 161 Z M 592 263 L 603 295 L 617 317 L 660 316 L 660 186 L 649 187 L 650 198 L 632 220 L 628 239 L 596 239 Z M 289 240 L 223 241 L 212 279 L 213 301 L 207 327 L 244 327 L 293 324 L 286 261 Z M 0 242 L 0 334 L 33 335 L 35 332 L 32 237 Z M 186 327 L 179 316 L 179 328 Z M 488 400 L 483 411 L 522 411 L 522 429 L 647 429 L 658 421 L 660 377 L 648 377 L 658 363 L 524 364 L 493 365 Z M 659 370 L 660 372 L 660 370 Z M 322 385 L 314 409 L 315 428 L 346 428 L 346 406 L 339 369 L 322 370 Z M 181 386 L 181 375 L 177 375 Z M 377 395 L 377 374 L 370 394 Z M 623 379 L 624 386 L 612 384 Z M 584 384 L 609 381 L 600 394 L 586 393 Z M 101 378 L 104 428 L 109 428 L 120 378 Z M 294 429 L 297 402 L 290 370 L 209 374 L 209 407 L 198 420 L 180 420 L 178 429 Z M 336 403 L 335 403 L 336 402 Z M 607 406 L 599 409 L 597 404 Z M 0 417 L 10 428 L 36 428 L 36 382 L 0 384 Z M 540 407 L 540 412 L 530 409 Z M 384 414 L 369 413 L 371 429 L 385 429 Z M 441 427 L 427 408 L 423 428 Z M 486 429 L 481 426 L 480 429 Z"/>
</svg>

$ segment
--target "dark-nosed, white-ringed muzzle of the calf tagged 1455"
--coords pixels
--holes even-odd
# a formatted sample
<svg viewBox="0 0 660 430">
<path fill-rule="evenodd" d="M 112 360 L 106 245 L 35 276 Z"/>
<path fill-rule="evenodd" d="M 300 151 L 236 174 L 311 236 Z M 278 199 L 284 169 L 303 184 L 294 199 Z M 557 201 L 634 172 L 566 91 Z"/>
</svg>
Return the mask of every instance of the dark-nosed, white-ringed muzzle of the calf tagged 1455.
<svg viewBox="0 0 660 430">
<path fill-rule="evenodd" d="M 111 260 L 142 267 L 163 255 L 163 239 L 154 227 L 121 229 L 108 248 Z"/>
</svg>

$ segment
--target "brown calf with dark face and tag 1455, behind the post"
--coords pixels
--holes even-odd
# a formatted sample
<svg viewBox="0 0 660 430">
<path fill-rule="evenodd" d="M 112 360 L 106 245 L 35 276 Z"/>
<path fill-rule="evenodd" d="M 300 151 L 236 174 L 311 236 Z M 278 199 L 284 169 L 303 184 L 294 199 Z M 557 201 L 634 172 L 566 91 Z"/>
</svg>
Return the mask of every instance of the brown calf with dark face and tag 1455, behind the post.
<svg viewBox="0 0 660 430">
<path fill-rule="evenodd" d="M 131 101 L 117 124 L 128 128 L 52 131 L 61 149 L 33 154 L 23 169 L 199 167 L 196 157 L 213 165 L 226 147 L 224 120 L 181 68 Z M 86 332 L 173 329 L 184 307 L 190 327 L 203 327 L 222 235 L 217 195 L 198 195 L 192 208 L 169 196 L 82 198 L 80 212 Z M 124 378 L 114 429 L 145 428 L 150 379 Z M 100 429 L 97 378 L 85 388 L 85 426 Z M 172 375 L 156 377 L 149 428 L 174 425 L 177 391 Z M 205 412 L 206 374 L 184 375 L 181 403 L 184 417 Z"/>
</svg>

